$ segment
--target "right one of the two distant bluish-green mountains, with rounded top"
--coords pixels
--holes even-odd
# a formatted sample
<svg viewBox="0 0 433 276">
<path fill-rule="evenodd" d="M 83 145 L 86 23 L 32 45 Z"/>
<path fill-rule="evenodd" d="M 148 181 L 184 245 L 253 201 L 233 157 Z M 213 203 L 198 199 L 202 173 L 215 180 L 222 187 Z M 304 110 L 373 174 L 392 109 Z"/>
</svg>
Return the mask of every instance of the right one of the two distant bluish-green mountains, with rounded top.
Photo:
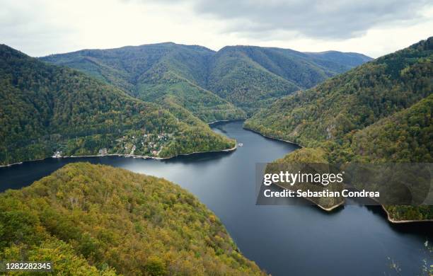
<svg viewBox="0 0 433 276">
<path fill-rule="evenodd" d="M 246 110 L 257 110 L 370 59 L 362 54 L 333 53 L 335 61 L 321 53 L 274 47 L 224 47 L 212 60 L 208 87 Z"/>
</svg>

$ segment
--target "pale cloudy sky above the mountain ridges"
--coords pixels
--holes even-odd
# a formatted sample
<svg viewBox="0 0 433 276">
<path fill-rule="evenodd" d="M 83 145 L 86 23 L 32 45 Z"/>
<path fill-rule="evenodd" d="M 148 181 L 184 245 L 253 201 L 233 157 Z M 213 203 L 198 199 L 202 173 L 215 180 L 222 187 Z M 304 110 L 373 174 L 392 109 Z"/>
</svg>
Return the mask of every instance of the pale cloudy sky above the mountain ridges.
<svg viewBox="0 0 433 276">
<path fill-rule="evenodd" d="M 37 57 L 168 41 L 379 57 L 433 35 L 429 0 L 0 0 L 0 6 L 0 43 Z"/>
</svg>

